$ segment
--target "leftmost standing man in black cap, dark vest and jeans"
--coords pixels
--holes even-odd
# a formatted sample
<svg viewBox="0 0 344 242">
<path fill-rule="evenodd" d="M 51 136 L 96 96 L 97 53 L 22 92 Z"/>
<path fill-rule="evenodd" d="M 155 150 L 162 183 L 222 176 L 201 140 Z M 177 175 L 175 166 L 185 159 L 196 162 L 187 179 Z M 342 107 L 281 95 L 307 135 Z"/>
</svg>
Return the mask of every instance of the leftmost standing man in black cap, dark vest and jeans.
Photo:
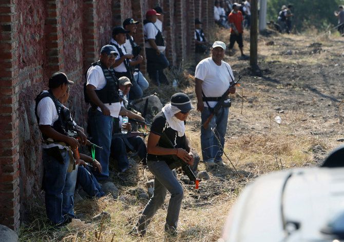
<svg viewBox="0 0 344 242">
<path fill-rule="evenodd" d="M 74 83 L 63 72 L 56 72 L 49 78 L 49 90 L 36 97 L 35 114 L 43 136 L 42 158 L 44 167 L 45 205 L 52 224 L 66 224 L 74 218 L 74 188 L 76 172 L 74 159 L 79 163 L 78 140 L 67 136 L 69 118 L 65 107 L 59 102 Z M 82 133 L 83 144 L 85 135 Z M 73 150 L 73 154 L 71 153 Z"/>
</svg>

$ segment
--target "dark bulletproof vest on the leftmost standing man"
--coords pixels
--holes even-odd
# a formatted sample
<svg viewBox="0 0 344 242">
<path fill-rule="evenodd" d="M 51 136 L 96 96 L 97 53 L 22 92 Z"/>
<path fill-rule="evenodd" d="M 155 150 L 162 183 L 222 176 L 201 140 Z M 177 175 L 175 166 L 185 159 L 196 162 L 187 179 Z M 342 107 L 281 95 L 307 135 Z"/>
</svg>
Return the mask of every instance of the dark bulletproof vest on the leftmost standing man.
<svg viewBox="0 0 344 242">
<path fill-rule="evenodd" d="M 37 122 L 40 124 L 40 118 L 37 115 L 37 107 L 40 101 L 45 97 L 50 97 L 53 100 L 56 111 L 58 112 L 58 116 L 59 116 L 59 118 L 54 122 L 52 128 L 61 134 L 67 135 L 68 131 L 73 129 L 73 122 L 70 116 L 69 109 L 67 109 L 60 103 L 60 101 L 52 94 L 51 90 L 49 90 L 48 92 L 41 92 L 35 98 L 35 101 L 36 101 L 35 114 L 36 114 Z M 42 136 L 43 136 L 43 139 L 49 138 L 48 136 L 44 134 L 42 134 Z"/>
</svg>

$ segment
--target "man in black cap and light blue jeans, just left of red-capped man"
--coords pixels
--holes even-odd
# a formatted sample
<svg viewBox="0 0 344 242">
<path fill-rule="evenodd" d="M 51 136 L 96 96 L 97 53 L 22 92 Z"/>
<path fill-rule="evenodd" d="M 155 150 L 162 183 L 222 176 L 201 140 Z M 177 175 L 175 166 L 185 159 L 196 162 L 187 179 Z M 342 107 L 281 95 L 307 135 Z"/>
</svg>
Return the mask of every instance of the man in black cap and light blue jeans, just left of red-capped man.
<svg viewBox="0 0 344 242">
<path fill-rule="evenodd" d="M 137 25 L 139 21 L 135 21 L 132 18 L 127 18 L 123 22 L 123 28 L 129 31 L 126 35 L 126 41 L 123 44 L 127 54 L 132 54 L 130 59 L 130 65 L 134 68 L 132 88 L 129 92 L 129 99 L 138 99 L 143 96 L 143 91 L 149 87 L 149 83 L 140 71 L 140 63 L 143 61 L 141 53 L 141 47 L 136 44 L 133 34 L 136 33 Z"/>
</svg>

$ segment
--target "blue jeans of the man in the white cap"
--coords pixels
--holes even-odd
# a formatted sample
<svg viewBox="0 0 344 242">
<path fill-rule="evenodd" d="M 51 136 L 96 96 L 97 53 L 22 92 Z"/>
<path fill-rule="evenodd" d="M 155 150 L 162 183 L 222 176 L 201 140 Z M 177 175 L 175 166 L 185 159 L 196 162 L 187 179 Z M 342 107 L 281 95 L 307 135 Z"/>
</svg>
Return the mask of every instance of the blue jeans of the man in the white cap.
<svg viewBox="0 0 344 242">
<path fill-rule="evenodd" d="M 229 110 L 229 108 L 221 107 L 218 115 L 213 116 L 208 128 L 201 128 L 201 147 L 204 161 L 208 161 L 209 159 L 215 159 L 215 162 L 222 160 L 222 148 L 224 146 L 224 136 L 226 134 Z M 211 112 L 209 108 L 204 107 L 204 110 L 201 113 L 202 124 L 210 114 Z M 214 129 L 216 135 L 214 135 L 212 129 Z"/>
</svg>

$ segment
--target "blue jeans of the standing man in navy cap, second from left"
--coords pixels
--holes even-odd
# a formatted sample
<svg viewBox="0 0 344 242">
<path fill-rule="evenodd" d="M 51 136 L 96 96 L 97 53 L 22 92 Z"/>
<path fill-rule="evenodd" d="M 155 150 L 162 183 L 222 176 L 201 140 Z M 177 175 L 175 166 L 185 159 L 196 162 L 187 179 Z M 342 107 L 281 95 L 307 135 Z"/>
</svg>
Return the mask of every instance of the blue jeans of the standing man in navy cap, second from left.
<svg viewBox="0 0 344 242">
<path fill-rule="evenodd" d="M 102 166 L 102 173 L 98 170 L 92 170 L 97 180 L 106 180 L 109 177 L 109 157 L 110 146 L 112 138 L 112 117 L 105 116 L 102 112 L 92 111 L 88 112 L 89 125 L 91 126 L 92 140 L 95 145 L 103 147 L 102 149 L 95 148 L 95 159 L 98 160 Z"/>
</svg>

